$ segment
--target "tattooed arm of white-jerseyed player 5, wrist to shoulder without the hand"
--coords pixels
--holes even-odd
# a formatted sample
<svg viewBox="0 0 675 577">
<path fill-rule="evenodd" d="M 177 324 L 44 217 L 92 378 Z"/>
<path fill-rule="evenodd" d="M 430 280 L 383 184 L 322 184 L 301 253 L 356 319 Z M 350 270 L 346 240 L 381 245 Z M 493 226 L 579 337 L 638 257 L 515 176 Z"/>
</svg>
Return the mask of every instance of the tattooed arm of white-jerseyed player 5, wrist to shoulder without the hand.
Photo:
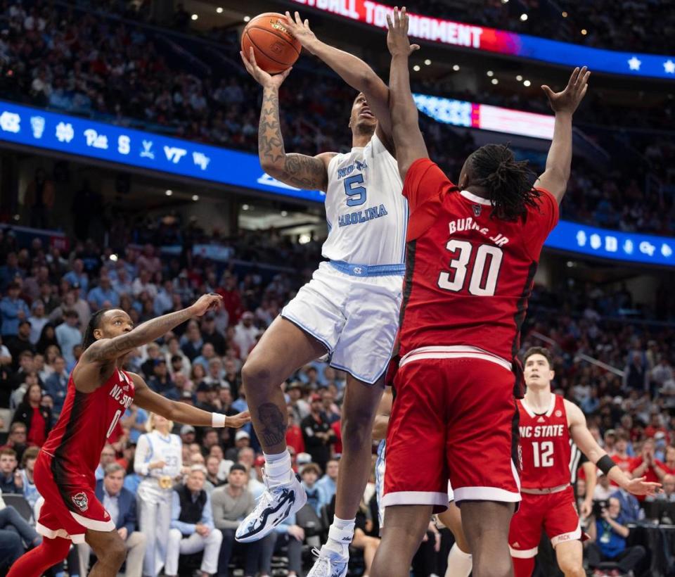
<svg viewBox="0 0 675 577">
<path fill-rule="evenodd" d="M 262 94 L 262 112 L 258 126 L 260 165 L 271 176 L 302 189 L 326 189 L 328 174 L 320 158 L 286 154 L 279 120 L 279 95 L 266 87 Z"/>
</svg>

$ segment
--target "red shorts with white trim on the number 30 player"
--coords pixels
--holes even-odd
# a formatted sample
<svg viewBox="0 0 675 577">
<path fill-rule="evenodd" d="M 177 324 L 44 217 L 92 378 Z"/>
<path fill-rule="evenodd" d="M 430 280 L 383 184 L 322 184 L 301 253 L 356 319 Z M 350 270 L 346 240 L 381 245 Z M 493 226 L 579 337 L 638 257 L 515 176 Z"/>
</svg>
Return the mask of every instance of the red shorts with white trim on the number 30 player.
<svg viewBox="0 0 675 577">
<path fill-rule="evenodd" d="M 518 503 L 514 380 L 508 362 L 480 349 L 425 347 L 406 355 L 394 379 L 383 505 L 442 512 L 448 480 L 458 505 Z"/>
</svg>

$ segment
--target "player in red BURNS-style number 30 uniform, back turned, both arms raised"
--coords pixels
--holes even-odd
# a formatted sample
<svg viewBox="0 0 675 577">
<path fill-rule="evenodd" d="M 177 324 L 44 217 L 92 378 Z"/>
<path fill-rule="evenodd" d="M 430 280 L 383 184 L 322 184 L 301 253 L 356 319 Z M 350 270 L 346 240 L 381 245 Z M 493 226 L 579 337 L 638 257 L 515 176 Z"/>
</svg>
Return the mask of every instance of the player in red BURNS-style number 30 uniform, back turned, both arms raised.
<svg viewBox="0 0 675 577">
<path fill-rule="evenodd" d="M 520 502 L 515 354 L 544 240 L 572 163 L 572 115 L 588 87 L 542 87 L 555 113 L 546 170 L 488 144 L 452 184 L 433 163 L 410 90 L 408 16 L 388 17 L 392 137 L 411 217 L 399 328 L 397 396 L 387 434 L 383 541 L 371 577 L 406 577 L 451 481 L 475 577 L 513 574 L 508 528 Z M 424 442 L 420 443 L 419 440 Z"/>
</svg>

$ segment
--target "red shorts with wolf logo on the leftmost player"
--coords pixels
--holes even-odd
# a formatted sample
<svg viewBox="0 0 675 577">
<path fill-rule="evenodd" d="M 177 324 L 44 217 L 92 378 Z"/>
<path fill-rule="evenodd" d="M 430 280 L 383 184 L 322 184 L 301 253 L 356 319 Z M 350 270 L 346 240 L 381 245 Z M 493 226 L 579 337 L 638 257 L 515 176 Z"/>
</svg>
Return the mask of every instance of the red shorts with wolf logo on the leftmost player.
<svg viewBox="0 0 675 577">
<path fill-rule="evenodd" d="M 35 486 L 41 495 L 36 505 L 38 533 L 84 543 L 87 529 L 115 530 L 110 515 L 94 494 L 94 484 L 87 478 L 86 474 L 67 474 L 51 455 L 40 451 L 34 470 Z"/>
</svg>

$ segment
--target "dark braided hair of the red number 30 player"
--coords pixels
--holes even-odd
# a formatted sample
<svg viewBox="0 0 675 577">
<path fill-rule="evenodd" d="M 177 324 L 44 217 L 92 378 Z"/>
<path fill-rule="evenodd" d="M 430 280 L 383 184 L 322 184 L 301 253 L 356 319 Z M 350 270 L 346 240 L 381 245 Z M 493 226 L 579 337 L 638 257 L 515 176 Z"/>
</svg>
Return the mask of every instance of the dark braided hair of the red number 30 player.
<svg viewBox="0 0 675 577">
<path fill-rule="evenodd" d="M 469 157 L 474 182 L 489 192 L 491 218 L 518 220 L 536 207 L 541 193 L 532 187 L 534 172 L 527 160 L 515 160 L 508 144 L 486 144 Z"/>
</svg>

